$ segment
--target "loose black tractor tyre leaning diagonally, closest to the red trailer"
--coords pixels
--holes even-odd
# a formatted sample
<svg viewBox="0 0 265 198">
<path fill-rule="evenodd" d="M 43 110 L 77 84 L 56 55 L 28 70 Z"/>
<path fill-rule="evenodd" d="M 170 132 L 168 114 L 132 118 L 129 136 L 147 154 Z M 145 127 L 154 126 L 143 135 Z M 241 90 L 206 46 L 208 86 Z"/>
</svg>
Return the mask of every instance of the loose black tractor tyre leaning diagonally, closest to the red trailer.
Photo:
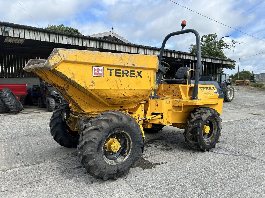
<svg viewBox="0 0 265 198">
<path fill-rule="evenodd" d="M 6 104 L 8 109 L 10 109 L 15 114 L 24 109 L 23 105 L 17 99 L 16 95 L 7 87 L 0 91 L 0 97 L 2 101 Z"/>
</svg>

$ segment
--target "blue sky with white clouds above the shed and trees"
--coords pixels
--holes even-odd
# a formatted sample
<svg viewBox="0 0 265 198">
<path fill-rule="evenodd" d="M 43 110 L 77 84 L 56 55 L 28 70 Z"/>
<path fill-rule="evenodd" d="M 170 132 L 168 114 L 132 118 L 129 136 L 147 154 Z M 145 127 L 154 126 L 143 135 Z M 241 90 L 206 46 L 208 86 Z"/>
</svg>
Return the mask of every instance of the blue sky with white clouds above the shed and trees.
<svg viewBox="0 0 265 198">
<path fill-rule="evenodd" d="M 25 10 L 21 7 L 21 5 Z M 168 0 L 0 0 L 0 21 L 45 28 L 50 25 L 70 26 L 84 35 L 113 31 L 131 43 L 161 47 L 164 37 L 181 29 L 191 28 L 200 36 L 216 33 L 218 38 L 232 36 L 242 44 L 225 55 L 236 60 L 236 69 L 224 69 L 234 74 L 238 58 L 265 51 L 265 42 L 214 22 Z M 263 0 L 172 0 L 193 11 L 237 30 L 265 40 L 265 1 Z M 229 40 L 227 40 L 229 41 Z M 169 39 L 167 49 L 187 51 L 195 44 L 193 34 Z M 265 53 L 241 59 L 239 70 L 265 73 Z"/>
</svg>

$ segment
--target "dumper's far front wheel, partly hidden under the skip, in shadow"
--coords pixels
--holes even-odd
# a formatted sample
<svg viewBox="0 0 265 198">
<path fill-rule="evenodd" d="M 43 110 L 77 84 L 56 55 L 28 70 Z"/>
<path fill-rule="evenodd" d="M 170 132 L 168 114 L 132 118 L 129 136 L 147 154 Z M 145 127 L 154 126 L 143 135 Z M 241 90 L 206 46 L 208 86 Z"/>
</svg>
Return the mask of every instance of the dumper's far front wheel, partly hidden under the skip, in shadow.
<svg viewBox="0 0 265 198">
<path fill-rule="evenodd" d="M 68 104 L 60 105 L 52 114 L 50 119 L 50 133 L 52 138 L 63 147 L 76 148 L 79 139 L 77 131 L 72 131 L 61 119 L 61 110 L 69 109 Z"/>
</svg>

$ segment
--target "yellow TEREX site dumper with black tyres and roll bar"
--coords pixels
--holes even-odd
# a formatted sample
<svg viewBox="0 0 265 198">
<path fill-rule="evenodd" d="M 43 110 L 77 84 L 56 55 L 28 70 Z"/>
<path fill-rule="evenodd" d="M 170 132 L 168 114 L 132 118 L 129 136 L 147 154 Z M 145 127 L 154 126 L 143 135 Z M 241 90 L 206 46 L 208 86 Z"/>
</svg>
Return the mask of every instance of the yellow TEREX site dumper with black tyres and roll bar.
<svg viewBox="0 0 265 198">
<path fill-rule="evenodd" d="M 166 41 L 191 32 L 197 40 L 195 80 L 188 67 L 164 79 L 170 65 L 161 61 Z M 164 126 L 184 129 L 193 149 L 210 151 L 222 129 L 223 93 L 216 81 L 199 81 L 200 36 L 193 29 L 173 32 L 155 55 L 107 53 L 55 48 L 47 60 L 30 59 L 24 70 L 54 86 L 69 104 L 50 119 L 50 133 L 78 157 L 96 178 L 127 175 L 144 147 L 144 131 Z"/>
</svg>

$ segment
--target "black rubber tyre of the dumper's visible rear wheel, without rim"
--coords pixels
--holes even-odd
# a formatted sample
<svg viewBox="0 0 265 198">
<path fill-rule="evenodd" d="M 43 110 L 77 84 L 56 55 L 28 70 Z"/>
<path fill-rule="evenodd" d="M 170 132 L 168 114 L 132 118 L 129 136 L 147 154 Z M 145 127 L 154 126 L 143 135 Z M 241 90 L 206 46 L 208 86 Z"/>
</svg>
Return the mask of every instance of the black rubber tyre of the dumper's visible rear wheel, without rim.
<svg viewBox="0 0 265 198">
<path fill-rule="evenodd" d="M 213 143 L 206 145 L 202 143 L 203 140 L 200 138 L 205 122 L 208 120 L 209 116 L 215 116 L 217 122 L 217 134 L 213 140 Z M 219 136 L 221 136 L 221 125 L 222 119 L 220 114 L 212 108 L 209 107 L 199 107 L 195 108 L 194 111 L 186 118 L 186 124 L 184 125 L 184 137 L 185 142 L 195 150 L 210 151 L 215 147 L 215 144 L 219 142 Z M 202 136 L 203 138 L 203 136 Z"/>
</svg>

